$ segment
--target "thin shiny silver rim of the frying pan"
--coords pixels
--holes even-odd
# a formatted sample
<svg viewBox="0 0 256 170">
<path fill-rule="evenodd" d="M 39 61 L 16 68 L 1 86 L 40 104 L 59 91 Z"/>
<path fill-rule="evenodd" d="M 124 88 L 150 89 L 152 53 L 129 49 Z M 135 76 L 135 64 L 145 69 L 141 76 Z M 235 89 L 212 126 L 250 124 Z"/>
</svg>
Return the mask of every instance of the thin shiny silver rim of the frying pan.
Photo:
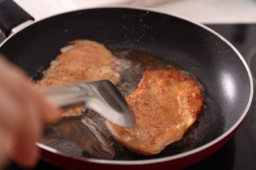
<svg viewBox="0 0 256 170">
<path fill-rule="evenodd" d="M 249 107 L 251 106 L 251 102 L 253 99 L 253 78 L 251 75 L 251 71 L 249 69 L 249 66 L 247 65 L 247 63 L 245 62 L 245 59 L 242 57 L 242 54 L 240 54 L 240 52 L 233 46 L 233 44 L 231 44 L 228 40 L 226 40 L 222 35 L 220 35 L 219 33 L 217 33 L 216 31 L 214 31 L 213 29 L 207 27 L 206 25 L 201 24 L 200 22 L 196 22 L 194 20 L 191 20 L 189 18 L 186 18 L 184 16 L 180 16 L 178 14 L 173 14 L 171 12 L 163 12 L 160 10 L 156 10 L 156 9 L 150 9 L 147 7 L 135 7 L 135 6 L 127 6 L 127 5 L 108 5 L 108 6 L 104 6 L 104 7 L 90 7 L 90 8 L 85 8 L 85 9 L 79 9 L 79 10 L 72 10 L 72 11 L 68 11 L 68 12 L 63 12 L 61 14 L 55 14 L 53 16 L 49 16 L 47 18 L 52 18 L 54 16 L 58 16 L 58 15 L 62 15 L 62 14 L 66 14 L 69 12 L 78 12 L 81 10 L 93 10 L 93 9 L 132 9 L 132 10 L 144 10 L 144 11 L 148 11 L 148 12 L 156 12 L 159 14 L 166 14 L 168 16 L 173 16 L 176 18 L 180 18 L 186 22 L 190 22 L 192 24 L 198 25 L 199 27 L 202 27 L 203 29 L 206 29 L 207 31 L 213 33 L 214 35 L 216 35 L 217 37 L 219 37 L 223 42 L 225 42 L 228 46 L 230 46 L 230 48 L 232 50 L 234 50 L 234 52 L 238 55 L 238 57 L 241 59 L 242 63 L 244 64 L 244 67 L 247 71 L 247 74 L 249 76 L 249 82 L 250 82 L 250 95 L 249 95 L 249 100 L 247 101 L 247 106 L 245 107 L 244 112 L 242 113 L 242 115 L 240 116 L 240 118 L 236 121 L 236 123 L 230 127 L 230 129 L 228 129 L 225 133 L 223 133 L 221 136 L 217 137 L 216 139 L 214 139 L 213 141 L 207 143 L 207 144 L 203 144 L 202 146 L 198 147 L 198 148 L 194 148 L 192 150 L 188 150 L 186 152 L 182 152 L 180 154 L 175 154 L 173 156 L 167 156 L 164 158 L 152 158 L 149 160 L 100 160 L 100 159 L 91 159 L 91 158 L 74 158 L 68 154 L 64 154 L 54 148 L 51 148 L 49 146 L 46 146 L 45 144 L 41 144 L 41 143 L 36 143 L 37 146 L 39 146 L 39 148 L 42 148 L 44 150 L 47 150 L 49 152 L 53 152 L 55 154 L 59 154 L 61 156 L 65 156 L 68 158 L 72 158 L 72 159 L 76 159 L 76 160 L 81 160 L 81 161 L 89 161 L 92 163 L 104 163 L 104 164 L 112 164 L 112 165 L 144 165 L 144 164 L 150 164 L 150 163 L 160 163 L 163 161 L 171 161 L 171 160 L 177 160 L 179 158 L 184 158 L 186 156 L 190 156 L 192 154 L 196 154 L 198 152 L 202 152 L 203 150 L 213 146 L 214 144 L 219 143 L 220 141 L 222 141 L 225 137 L 227 137 L 228 135 L 230 135 L 230 133 L 232 133 L 233 131 L 236 130 L 236 128 L 238 126 L 240 126 L 240 124 L 242 123 L 242 121 L 244 120 Z M 33 22 L 30 25 L 36 24 L 37 22 L 40 22 L 42 20 L 47 20 L 47 18 L 43 18 L 41 20 L 37 20 L 35 22 Z M 28 25 L 29 26 L 29 25 Z M 26 28 L 26 27 L 25 27 Z M 17 31 L 16 33 L 18 33 L 19 31 Z M 1 42 L 0 44 L 0 48 L 3 44 L 5 44 L 6 41 L 8 41 L 9 39 L 11 39 L 12 36 L 14 36 L 16 33 L 12 33 L 12 35 L 10 35 L 9 37 L 7 37 L 7 39 L 5 39 L 3 42 Z"/>
</svg>

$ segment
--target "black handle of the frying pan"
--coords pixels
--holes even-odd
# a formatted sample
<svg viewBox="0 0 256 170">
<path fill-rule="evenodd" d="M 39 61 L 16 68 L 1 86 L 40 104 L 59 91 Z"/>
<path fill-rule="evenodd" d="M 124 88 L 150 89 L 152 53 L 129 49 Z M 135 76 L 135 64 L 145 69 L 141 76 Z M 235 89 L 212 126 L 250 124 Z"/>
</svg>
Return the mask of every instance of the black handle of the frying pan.
<svg viewBox="0 0 256 170">
<path fill-rule="evenodd" d="M 11 34 L 12 28 L 28 20 L 34 20 L 34 18 L 14 1 L 0 0 L 0 29 L 5 38 Z"/>
</svg>

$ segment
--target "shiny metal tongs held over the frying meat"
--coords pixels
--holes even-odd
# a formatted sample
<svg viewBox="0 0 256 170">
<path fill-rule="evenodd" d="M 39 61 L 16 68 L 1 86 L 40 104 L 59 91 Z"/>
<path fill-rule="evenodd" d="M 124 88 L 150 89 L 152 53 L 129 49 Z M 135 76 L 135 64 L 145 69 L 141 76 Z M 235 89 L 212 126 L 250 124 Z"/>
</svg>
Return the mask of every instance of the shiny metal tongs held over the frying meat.
<svg viewBox="0 0 256 170">
<path fill-rule="evenodd" d="M 43 88 L 42 92 L 60 108 L 66 109 L 82 103 L 118 126 L 135 125 L 135 115 L 123 95 L 109 80 L 54 86 Z M 82 114 L 64 116 L 59 122 L 45 124 L 44 136 L 68 139 L 98 158 L 112 159 L 115 155 L 114 148 L 100 127 Z"/>
</svg>

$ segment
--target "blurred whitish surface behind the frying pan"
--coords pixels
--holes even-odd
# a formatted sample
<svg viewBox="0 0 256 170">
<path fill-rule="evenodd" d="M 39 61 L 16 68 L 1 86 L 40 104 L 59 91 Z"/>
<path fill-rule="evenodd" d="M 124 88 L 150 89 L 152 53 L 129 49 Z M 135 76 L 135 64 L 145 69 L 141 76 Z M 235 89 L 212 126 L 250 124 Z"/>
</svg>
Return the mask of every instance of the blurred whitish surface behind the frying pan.
<svg viewBox="0 0 256 170">
<path fill-rule="evenodd" d="M 255 0 L 14 0 L 35 20 L 69 10 L 105 5 L 149 7 L 205 24 L 256 23 Z M 47 10 L 46 10 L 47 9 Z"/>
</svg>

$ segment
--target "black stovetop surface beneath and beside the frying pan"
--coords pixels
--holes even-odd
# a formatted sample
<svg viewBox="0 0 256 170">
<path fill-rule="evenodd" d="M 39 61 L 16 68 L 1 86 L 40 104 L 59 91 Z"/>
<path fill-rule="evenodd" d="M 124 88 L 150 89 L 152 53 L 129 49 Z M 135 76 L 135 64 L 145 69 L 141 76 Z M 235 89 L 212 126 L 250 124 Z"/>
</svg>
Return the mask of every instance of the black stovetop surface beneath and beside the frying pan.
<svg viewBox="0 0 256 170">
<path fill-rule="evenodd" d="M 230 41 L 244 56 L 256 83 L 256 24 L 207 25 Z M 255 86 L 256 87 L 256 86 Z M 193 169 L 256 169 L 256 90 L 253 102 L 235 135 L 215 154 L 188 168 Z M 57 169 L 40 160 L 35 169 Z M 8 169 L 21 169 L 11 163 Z"/>
</svg>

